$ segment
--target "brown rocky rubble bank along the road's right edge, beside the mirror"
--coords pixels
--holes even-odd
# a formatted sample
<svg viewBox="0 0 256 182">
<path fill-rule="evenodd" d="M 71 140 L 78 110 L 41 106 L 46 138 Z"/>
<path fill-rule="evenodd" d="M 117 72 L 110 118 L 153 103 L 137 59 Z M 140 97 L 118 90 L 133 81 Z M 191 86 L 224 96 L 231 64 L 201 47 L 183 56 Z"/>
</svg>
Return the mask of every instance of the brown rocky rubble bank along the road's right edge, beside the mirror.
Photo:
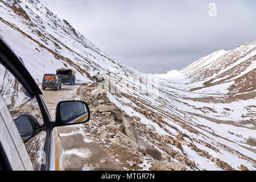
<svg viewBox="0 0 256 182">
<path fill-rule="evenodd" d="M 161 135 L 155 130 L 152 130 L 150 125 L 142 123 L 141 118 L 136 116 L 130 117 L 123 110 L 109 102 L 109 98 L 102 90 L 99 90 L 98 97 L 96 98 L 92 94 L 92 90 L 96 88 L 92 87 L 88 89 L 86 86 L 84 88 L 86 89 L 79 89 L 82 97 L 81 100 L 89 100 L 89 107 L 92 108 L 90 111 L 92 112 L 91 118 L 93 122 L 87 124 L 90 128 L 88 133 L 92 134 L 92 137 L 97 142 L 101 142 L 103 138 L 105 142 L 102 144 L 107 144 L 111 148 L 123 148 L 122 150 L 126 151 L 127 154 L 134 156 L 133 162 L 135 161 L 136 164 L 140 164 L 139 161 L 142 159 L 148 160 L 150 163 L 154 162 L 155 167 L 158 166 L 158 168 L 154 168 L 154 165 L 152 165 L 152 169 L 155 170 L 181 170 L 185 169 L 183 168 L 184 166 L 190 167 L 191 169 L 197 168 L 196 163 L 189 160 L 186 154 L 183 154 L 184 151 L 181 144 L 187 144 L 187 146 L 199 152 L 201 156 L 209 159 L 209 156 L 205 155 L 203 150 L 199 150 L 193 143 L 190 144 L 190 142 L 184 140 L 185 137 L 189 138 L 186 134 L 179 133 L 179 138 L 177 137 L 176 139 L 170 135 Z M 87 93 L 90 95 L 87 95 Z M 151 112 L 147 112 L 146 114 L 149 119 L 157 115 L 157 113 L 151 115 Z M 159 118 L 161 119 L 160 116 Z M 160 126 L 160 122 L 156 121 L 156 123 Z M 179 148 L 182 153 L 176 149 L 174 150 L 174 146 Z M 156 149 L 156 147 L 160 148 L 163 153 Z M 140 169 L 138 165 L 130 166 L 130 160 L 129 158 L 126 159 L 121 165 L 128 169 Z M 174 160 L 177 164 L 168 164 L 174 162 Z M 179 162 L 182 164 L 179 164 Z M 222 169 L 232 169 L 228 164 L 220 160 L 217 165 L 222 166 Z"/>
</svg>

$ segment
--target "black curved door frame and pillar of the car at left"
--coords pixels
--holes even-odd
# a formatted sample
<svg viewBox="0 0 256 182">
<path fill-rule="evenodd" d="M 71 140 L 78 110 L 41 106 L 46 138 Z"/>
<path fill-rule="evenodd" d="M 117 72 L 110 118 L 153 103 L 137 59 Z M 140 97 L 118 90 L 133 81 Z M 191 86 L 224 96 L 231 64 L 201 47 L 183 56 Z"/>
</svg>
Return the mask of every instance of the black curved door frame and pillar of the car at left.
<svg viewBox="0 0 256 182">
<path fill-rule="evenodd" d="M 51 121 L 51 115 L 43 101 L 43 94 L 36 84 L 34 78 L 30 75 L 22 60 L 19 59 L 14 51 L 0 38 L 0 63 L 24 86 L 28 94 L 32 98 L 36 98 L 43 119 L 44 131 L 46 131 L 46 140 L 44 142 L 43 151 L 45 152 L 46 163 L 40 164 L 40 171 L 50 170 L 51 168 L 51 140 L 52 130 L 56 126 L 55 122 Z"/>
</svg>

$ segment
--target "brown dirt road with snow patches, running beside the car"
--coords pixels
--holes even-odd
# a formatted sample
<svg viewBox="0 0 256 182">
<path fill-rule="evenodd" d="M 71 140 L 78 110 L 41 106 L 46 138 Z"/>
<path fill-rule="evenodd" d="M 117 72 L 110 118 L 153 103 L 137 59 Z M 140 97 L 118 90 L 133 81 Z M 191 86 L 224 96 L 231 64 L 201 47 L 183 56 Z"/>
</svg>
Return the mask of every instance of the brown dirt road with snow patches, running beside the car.
<svg viewBox="0 0 256 182">
<path fill-rule="evenodd" d="M 81 84 L 62 85 L 60 90 L 42 90 L 43 99 L 52 119 L 55 119 L 56 105 L 60 101 L 73 100 Z M 88 137 L 93 121 L 84 125 L 58 127 L 65 170 L 115 170 L 117 163 L 110 158 L 106 148 Z"/>
</svg>

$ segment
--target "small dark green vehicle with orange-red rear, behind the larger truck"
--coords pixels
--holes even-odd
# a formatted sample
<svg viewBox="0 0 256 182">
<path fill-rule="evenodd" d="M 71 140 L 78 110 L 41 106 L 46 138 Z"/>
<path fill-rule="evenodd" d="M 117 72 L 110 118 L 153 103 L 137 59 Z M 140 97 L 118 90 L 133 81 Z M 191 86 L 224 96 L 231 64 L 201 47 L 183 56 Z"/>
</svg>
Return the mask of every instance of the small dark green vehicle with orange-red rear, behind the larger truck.
<svg viewBox="0 0 256 182">
<path fill-rule="evenodd" d="M 46 90 L 47 88 L 58 90 L 61 89 L 61 81 L 59 76 L 55 74 L 44 74 L 42 89 Z"/>
</svg>

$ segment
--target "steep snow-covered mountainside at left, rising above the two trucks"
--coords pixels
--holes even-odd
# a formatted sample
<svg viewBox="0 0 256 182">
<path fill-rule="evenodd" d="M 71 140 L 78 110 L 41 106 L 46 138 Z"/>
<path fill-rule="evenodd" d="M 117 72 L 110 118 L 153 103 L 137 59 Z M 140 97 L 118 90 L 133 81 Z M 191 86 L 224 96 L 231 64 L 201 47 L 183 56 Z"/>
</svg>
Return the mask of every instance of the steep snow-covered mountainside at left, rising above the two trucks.
<svg viewBox="0 0 256 182">
<path fill-rule="evenodd" d="M 55 73 L 57 68 L 76 69 L 77 78 L 84 81 L 97 71 L 118 68 L 119 72 L 133 72 L 100 51 L 39 1 L 0 1 L 0 7 L 0 35 L 38 82 L 44 72 Z"/>
</svg>

